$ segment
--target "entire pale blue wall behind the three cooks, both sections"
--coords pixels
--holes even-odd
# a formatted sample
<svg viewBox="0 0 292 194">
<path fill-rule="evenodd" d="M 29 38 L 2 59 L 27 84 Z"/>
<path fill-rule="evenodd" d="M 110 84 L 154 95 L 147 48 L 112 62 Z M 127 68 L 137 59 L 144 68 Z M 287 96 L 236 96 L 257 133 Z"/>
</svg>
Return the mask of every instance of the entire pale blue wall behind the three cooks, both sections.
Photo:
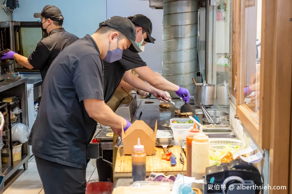
<svg viewBox="0 0 292 194">
<path fill-rule="evenodd" d="M 86 4 L 85 4 L 86 3 Z M 149 1 L 139 0 L 20 0 L 20 8 L 13 12 L 13 20 L 36 21 L 35 12 L 41 12 L 45 5 L 55 5 L 64 16 L 63 27 L 79 38 L 93 34 L 103 20 L 119 15 L 132 16 L 143 14 L 149 17 L 153 24 L 152 36 L 157 39 L 155 44 L 148 43 L 142 59 L 154 71 L 162 71 L 162 16 L 163 10 L 149 7 Z"/>
</svg>

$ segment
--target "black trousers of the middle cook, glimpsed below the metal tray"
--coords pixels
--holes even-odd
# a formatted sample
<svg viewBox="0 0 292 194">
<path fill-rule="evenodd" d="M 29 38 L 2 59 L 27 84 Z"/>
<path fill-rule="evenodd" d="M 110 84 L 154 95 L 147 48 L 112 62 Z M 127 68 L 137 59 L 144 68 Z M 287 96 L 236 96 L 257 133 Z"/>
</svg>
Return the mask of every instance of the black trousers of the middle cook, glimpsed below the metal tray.
<svg viewBox="0 0 292 194">
<path fill-rule="evenodd" d="M 103 150 L 103 159 L 112 162 L 112 149 Z M 101 158 L 96 159 L 96 169 L 100 182 L 113 182 L 112 165 Z"/>
</svg>

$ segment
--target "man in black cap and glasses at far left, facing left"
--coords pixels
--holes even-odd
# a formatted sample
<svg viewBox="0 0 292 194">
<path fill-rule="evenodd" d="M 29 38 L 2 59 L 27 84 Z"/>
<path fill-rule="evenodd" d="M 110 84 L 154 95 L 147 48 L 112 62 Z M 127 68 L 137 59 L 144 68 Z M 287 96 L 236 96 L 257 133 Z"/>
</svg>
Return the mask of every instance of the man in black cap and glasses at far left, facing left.
<svg viewBox="0 0 292 194">
<path fill-rule="evenodd" d="M 20 65 L 28 69 L 40 70 L 41 78 L 44 80 L 56 56 L 65 47 L 78 40 L 78 37 L 62 28 L 64 17 L 56 6 L 47 5 L 41 13 L 34 13 L 34 17 L 40 18 L 38 22 L 42 25 L 42 30 L 49 36 L 39 41 L 29 58 L 9 51 L 1 59 L 14 58 Z"/>
</svg>

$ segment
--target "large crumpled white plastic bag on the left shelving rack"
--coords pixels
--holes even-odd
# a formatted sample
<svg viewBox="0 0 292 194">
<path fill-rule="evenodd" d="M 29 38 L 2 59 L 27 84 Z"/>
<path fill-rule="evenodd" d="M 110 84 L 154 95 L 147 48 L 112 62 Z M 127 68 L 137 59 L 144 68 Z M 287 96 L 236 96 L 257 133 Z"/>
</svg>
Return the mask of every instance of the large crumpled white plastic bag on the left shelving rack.
<svg viewBox="0 0 292 194">
<path fill-rule="evenodd" d="M 15 124 L 11 129 L 12 141 L 20 141 L 21 143 L 27 142 L 27 137 L 29 136 L 30 130 L 31 128 L 27 127 L 25 124 Z"/>
</svg>

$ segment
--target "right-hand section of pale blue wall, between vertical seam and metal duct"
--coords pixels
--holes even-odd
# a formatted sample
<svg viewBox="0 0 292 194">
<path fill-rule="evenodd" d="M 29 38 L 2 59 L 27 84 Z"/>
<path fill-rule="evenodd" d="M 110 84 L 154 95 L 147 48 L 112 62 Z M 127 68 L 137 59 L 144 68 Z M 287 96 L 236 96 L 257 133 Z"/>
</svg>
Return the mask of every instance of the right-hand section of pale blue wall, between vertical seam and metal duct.
<svg viewBox="0 0 292 194">
<path fill-rule="evenodd" d="M 141 58 L 154 71 L 162 72 L 162 9 L 151 9 L 149 1 L 139 0 L 107 0 L 107 18 L 119 16 L 133 16 L 143 14 L 152 22 L 152 37 L 156 39 L 155 44 L 147 43 Z"/>
</svg>

